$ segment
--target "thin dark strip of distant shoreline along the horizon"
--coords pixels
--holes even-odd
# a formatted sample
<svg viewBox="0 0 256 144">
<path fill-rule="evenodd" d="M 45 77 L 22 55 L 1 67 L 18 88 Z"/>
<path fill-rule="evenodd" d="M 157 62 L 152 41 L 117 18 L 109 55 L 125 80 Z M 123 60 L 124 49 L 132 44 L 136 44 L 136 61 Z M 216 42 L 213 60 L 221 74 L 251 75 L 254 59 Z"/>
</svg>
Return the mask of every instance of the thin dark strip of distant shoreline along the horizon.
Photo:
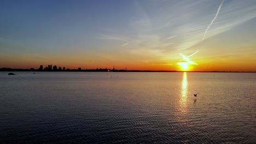
<svg viewBox="0 0 256 144">
<path fill-rule="evenodd" d="M 189 72 L 189 73 L 256 73 L 256 71 L 178 71 L 178 70 L 110 70 L 110 69 L 68 69 L 68 70 L 36 70 L 0 68 L 0 71 L 31 71 L 31 72 Z"/>
</svg>

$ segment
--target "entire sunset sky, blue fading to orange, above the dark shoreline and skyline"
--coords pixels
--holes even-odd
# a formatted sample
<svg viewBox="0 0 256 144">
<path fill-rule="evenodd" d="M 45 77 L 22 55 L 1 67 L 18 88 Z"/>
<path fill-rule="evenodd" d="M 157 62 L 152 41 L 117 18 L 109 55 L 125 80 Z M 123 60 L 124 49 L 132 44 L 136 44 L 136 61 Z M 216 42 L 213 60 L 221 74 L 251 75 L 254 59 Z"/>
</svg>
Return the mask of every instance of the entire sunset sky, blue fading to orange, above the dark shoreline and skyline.
<svg viewBox="0 0 256 144">
<path fill-rule="evenodd" d="M 0 68 L 256 71 L 255 17 L 255 0 L 2 0 Z"/>
</svg>

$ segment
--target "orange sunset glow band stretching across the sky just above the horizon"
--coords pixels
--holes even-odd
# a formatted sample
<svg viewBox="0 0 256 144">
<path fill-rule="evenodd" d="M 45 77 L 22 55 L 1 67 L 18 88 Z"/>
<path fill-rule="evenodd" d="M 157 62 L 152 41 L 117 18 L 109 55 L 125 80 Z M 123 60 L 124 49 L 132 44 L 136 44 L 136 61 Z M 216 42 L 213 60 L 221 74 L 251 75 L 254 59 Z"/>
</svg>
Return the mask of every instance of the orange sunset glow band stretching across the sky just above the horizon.
<svg viewBox="0 0 256 144">
<path fill-rule="evenodd" d="M 1 56 L 1 55 L 0 55 Z M 3 55 L 2 55 L 3 56 Z M 4 57 L 2 57 L 4 58 Z M 80 57 L 79 57 L 80 58 Z M 196 64 L 187 64 L 187 62 L 177 62 L 177 59 L 171 59 L 166 63 L 166 61 L 155 60 L 154 62 L 143 63 L 137 61 L 137 59 L 123 59 L 122 61 L 100 61 L 100 59 L 83 59 L 83 58 L 73 58 L 68 57 L 64 59 L 63 57 L 58 57 L 56 59 L 38 59 L 35 57 L 26 56 L 26 59 L 21 56 L 5 58 L 3 61 L 0 61 L 0 68 L 21 68 L 21 69 L 38 69 L 40 65 L 43 65 L 43 68 L 51 65 L 56 65 L 59 67 L 66 67 L 69 69 L 96 69 L 96 68 L 108 68 L 113 69 L 125 69 L 127 70 L 177 70 L 177 71 L 256 71 L 254 57 L 251 58 L 251 61 L 241 60 L 241 62 L 230 62 L 227 59 L 207 59 L 199 57 L 196 60 Z M 128 61 L 129 60 L 129 61 Z M 194 60 L 194 59 L 193 59 Z"/>
</svg>

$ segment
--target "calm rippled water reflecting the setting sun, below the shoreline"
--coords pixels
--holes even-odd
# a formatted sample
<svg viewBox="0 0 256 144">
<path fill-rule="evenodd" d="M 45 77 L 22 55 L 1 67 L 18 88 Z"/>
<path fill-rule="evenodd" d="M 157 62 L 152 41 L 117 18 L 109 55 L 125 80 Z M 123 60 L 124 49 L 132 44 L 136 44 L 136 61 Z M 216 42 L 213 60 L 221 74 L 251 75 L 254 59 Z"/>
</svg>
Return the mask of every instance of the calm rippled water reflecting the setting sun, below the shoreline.
<svg viewBox="0 0 256 144">
<path fill-rule="evenodd" d="M 0 143 L 256 143 L 256 73 L 16 74 Z"/>
</svg>

